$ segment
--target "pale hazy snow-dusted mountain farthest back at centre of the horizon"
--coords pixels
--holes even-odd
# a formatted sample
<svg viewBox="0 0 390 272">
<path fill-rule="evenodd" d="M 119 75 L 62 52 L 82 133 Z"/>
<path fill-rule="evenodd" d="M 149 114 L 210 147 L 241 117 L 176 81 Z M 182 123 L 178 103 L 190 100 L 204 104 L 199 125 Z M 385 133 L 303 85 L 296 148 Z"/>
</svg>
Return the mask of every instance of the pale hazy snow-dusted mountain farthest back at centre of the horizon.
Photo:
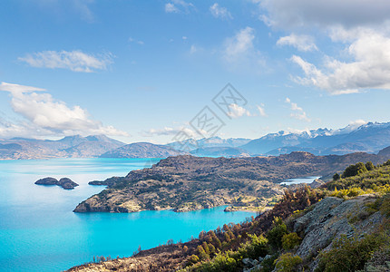
<svg viewBox="0 0 390 272">
<path fill-rule="evenodd" d="M 200 140 L 194 140 L 194 139 L 188 139 L 186 141 L 174 141 L 169 144 L 171 148 L 175 150 L 183 150 L 183 149 L 189 149 L 190 151 L 194 151 L 197 149 L 205 149 L 210 147 L 239 147 L 241 145 L 244 145 L 248 143 L 250 139 L 246 138 L 229 138 L 229 139 L 222 139 L 218 136 L 210 137 L 210 138 L 202 138 Z"/>
</svg>

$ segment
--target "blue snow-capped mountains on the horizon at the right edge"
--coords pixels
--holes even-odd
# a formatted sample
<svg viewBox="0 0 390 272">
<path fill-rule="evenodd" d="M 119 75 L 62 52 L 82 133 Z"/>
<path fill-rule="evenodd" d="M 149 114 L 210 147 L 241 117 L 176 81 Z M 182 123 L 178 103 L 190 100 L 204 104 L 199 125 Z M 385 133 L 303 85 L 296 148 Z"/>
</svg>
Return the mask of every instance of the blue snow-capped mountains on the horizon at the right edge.
<svg viewBox="0 0 390 272">
<path fill-rule="evenodd" d="M 346 126 L 340 130 L 319 129 L 301 133 L 268 134 L 239 148 L 253 154 L 279 155 L 292 151 L 307 151 L 316 155 L 351 152 L 375 153 L 390 145 L 390 122 L 368 122 Z"/>
</svg>

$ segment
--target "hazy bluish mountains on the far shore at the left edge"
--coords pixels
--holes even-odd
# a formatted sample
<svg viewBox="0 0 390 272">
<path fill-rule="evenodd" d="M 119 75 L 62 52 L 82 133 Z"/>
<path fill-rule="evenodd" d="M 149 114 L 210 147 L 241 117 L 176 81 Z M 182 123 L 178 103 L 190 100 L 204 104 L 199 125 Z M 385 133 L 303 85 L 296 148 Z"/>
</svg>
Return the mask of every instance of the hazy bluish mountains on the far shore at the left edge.
<svg viewBox="0 0 390 272">
<path fill-rule="evenodd" d="M 0 140 L 0 159 L 93 158 L 125 145 L 104 135 L 67 136 L 61 140 Z"/>
</svg>

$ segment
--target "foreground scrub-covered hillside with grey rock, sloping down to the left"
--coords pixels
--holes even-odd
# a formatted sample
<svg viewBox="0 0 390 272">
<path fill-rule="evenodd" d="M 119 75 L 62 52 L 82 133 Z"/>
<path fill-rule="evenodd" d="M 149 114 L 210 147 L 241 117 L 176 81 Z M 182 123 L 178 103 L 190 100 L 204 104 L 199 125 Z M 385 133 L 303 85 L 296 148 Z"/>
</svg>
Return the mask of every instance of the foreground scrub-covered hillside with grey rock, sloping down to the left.
<svg viewBox="0 0 390 272">
<path fill-rule="evenodd" d="M 389 235 L 390 160 L 357 163 L 256 219 L 70 271 L 389 271 Z"/>
</svg>

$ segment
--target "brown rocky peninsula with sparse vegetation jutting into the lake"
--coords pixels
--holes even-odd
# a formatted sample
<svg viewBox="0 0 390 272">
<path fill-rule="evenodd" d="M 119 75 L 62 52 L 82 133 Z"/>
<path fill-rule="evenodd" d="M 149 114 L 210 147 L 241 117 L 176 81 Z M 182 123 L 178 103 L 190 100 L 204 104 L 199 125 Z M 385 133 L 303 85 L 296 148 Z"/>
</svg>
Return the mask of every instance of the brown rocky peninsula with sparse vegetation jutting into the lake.
<svg viewBox="0 0 390 272">
<path fill-rule="evenodd" d="M 315 156 L 293 152 L 278 157 L 200 158 L 177 156 L 151 169 L 133 170 L 126 177 L 93 185 L 108 189 L 80 203 L 76 212 L 132 212 L 145 209 L 187 211 L 231 205 L 234 209 L 265 209 L 280 198 L 282 180 L 331 177 L 356 161 L 383 161 L 374 154 Z"/>
</svg>

